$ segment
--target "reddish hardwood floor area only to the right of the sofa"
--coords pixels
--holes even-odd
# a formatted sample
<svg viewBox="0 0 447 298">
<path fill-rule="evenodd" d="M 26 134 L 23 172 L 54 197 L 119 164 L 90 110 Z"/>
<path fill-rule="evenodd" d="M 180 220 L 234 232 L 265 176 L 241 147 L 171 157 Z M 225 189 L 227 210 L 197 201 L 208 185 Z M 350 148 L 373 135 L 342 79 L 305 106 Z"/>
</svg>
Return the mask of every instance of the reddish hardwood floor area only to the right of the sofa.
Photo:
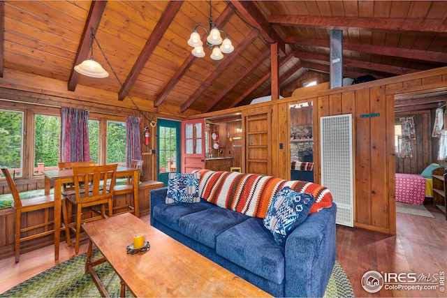
<svg viewBox="0 0 447 298">
<path fill-rule="evenodd" d="M 417 278 L 420 274 L 430 275 L 430 281 L 438 278 L 435 284 L 439 285 L 439 273 L 447 271 L 447 221 L 437 207 L 426 207 L 436 218 L 397 213 L 395 236 L 337 226 L 337 260 L 351 282 L 355 297 L 447 296 L 439 287 L 437 290 L 386 290 L 384 286 L 376 293 L 362 288 L 362 276 L 370 270 L 379 271 L 382 276 L 383 273 L 416 273 Z"/>
</svg>

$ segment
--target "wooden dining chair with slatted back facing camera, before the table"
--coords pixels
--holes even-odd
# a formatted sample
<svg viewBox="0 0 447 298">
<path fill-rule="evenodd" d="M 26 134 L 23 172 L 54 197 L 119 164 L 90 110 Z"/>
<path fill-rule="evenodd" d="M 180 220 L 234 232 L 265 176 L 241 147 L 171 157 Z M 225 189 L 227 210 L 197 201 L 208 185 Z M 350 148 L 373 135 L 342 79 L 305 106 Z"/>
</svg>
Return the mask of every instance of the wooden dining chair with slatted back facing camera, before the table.
<svg viewBox="0 0 447 298">
<path fill-rule="evenodd" d="M 80 236 L 84 234 L 81 231 L 82 223 L 112 216 L 112 198 L 116 176 L 116 163 L 73 167 L 75 193 L 67 195 L 66 204 L 63 205 L 63 208 L 66 208 L 64 212 L 70 215 L 73 206 L 76 208 L 75 216 L 71 216 L 68 223 L 70 230 L 75 233 L 76 253 L 79 252 Z M 110 184 L 108 184 L 108 181 L 110 181 Z M 89 185 L 89 191 L 85 191 L 85 185 L 87 184 Z M 105 213 L 105 205 L 108 206 L 108 214 Z M 86 216 L 88 213 L 90 217 Z"/>
</svg>

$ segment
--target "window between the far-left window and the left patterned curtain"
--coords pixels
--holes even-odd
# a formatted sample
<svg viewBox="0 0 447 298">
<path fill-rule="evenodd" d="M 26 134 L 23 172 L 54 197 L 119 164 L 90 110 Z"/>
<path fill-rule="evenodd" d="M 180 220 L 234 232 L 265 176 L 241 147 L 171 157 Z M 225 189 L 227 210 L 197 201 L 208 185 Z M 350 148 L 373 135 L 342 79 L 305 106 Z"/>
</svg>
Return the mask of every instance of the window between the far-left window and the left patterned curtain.
<svg viewBox="0 0 447 298">
<path fill-rule="evenodd" d="M 34 117 L 34 171 L 57 168 L 61 144 L 61 117 L 36 114 Z"/>
</svg>

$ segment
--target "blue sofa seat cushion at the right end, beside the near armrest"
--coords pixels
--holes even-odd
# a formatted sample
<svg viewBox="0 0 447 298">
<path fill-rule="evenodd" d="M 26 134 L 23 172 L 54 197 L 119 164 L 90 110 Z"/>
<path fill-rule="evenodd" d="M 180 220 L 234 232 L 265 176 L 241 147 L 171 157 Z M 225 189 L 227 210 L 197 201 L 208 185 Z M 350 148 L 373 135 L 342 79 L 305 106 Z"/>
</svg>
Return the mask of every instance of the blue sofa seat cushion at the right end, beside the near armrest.
<svg viewBox="0 0 447 298">
<path fill-rule="evenodd" d="M 249 218 L 219 234 L 216 253 L 273 283 L 284 280 L 284 247 L 274 241 L 262 218 Z"/>
</svg>

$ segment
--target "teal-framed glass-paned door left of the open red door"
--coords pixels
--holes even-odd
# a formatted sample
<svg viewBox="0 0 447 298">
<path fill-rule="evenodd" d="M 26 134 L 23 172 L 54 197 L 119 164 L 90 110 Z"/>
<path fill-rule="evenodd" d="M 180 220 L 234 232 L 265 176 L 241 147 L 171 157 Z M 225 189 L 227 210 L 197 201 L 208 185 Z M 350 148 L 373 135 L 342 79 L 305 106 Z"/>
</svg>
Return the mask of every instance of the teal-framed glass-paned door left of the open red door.
<svg viewBox="0 0 447 298">
<path fill-rule="evenodd" d="M 180 122 L 158 119 L 157 126 L 157 177 L 168 186 L 169 173 L 180 170 Z"/>
</svg>

